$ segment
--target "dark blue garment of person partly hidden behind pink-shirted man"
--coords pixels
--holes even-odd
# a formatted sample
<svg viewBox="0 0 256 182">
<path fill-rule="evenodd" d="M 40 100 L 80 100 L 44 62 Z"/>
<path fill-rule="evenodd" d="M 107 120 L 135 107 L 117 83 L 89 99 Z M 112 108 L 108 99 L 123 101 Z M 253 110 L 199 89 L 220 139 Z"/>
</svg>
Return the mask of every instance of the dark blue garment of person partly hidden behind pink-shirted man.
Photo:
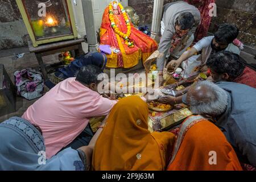
<svg viewBox="0 0 256 182">
<path fill-rule="evenodd" d="M 85 65 L 93 64 L 97 67 L 100 67 L 102 70 L 105 69 L 106 61 L 106 55 L 104 55 L 103 53 L 89 52 L 86 55 L 82 55 L 77 59 L 71 61 L 71 63 L 67 65 L 67 67 L 60 68 L 59 72 L 63 73 L 63 75 L 65 76 L 62 76 L 63 78 L 76 77 L 77 71 L 79 71 L 79 69 L 84 67 Z M 59 73 L 57 74 L 59 75 Z"/>
</svg>

